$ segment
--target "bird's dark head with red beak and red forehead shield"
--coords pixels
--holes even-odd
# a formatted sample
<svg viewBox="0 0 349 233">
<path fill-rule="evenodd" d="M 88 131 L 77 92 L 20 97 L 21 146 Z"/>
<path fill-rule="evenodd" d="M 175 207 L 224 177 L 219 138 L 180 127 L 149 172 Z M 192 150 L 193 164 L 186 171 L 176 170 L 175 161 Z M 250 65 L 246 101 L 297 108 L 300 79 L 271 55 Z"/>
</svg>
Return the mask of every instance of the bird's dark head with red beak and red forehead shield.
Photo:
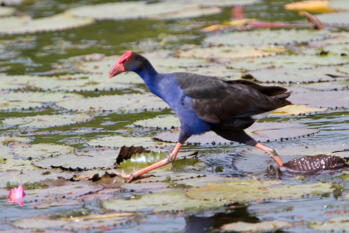
<svg viewBox="0 0 349 233">
<path fill-rule="evenodd" d="M 138 53 L 131 51 L 125 52 L 109 71 L 109 78 L 125 71 L 137 72 L 142 68 L 142 58 Z"/>
</svg>

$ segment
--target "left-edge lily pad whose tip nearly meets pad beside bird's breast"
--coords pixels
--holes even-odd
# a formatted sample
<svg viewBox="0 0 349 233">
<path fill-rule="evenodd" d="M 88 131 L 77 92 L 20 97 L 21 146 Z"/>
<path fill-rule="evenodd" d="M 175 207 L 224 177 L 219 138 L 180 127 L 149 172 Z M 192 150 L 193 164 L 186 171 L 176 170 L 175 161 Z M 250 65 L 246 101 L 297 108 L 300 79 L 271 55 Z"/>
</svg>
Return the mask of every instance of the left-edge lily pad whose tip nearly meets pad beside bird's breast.
<svg viewBox="0 0 349 233">
<path fill-rule="evenodd" d="M 0 103 L 0 110 L 41 108 L 44 103 L 58 102 L 66 99 L 77 101 L 81 98 L 81 95 L 74 93 L 11 91 L 1 94 L 2 102 Z"/>
</svg>

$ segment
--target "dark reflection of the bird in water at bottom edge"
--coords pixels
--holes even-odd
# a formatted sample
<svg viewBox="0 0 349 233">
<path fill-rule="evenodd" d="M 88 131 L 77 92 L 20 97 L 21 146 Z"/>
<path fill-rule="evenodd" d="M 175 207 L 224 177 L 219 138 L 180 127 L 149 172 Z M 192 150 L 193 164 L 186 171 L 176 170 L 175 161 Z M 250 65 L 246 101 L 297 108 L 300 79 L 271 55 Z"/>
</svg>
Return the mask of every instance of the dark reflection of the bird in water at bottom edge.
<svg viewBox="0 0 349 233">
<path fill-rule="evenodd" d="M 225 206 L 222 212 L 206 212 L 186 216 L 185 231 L 188 233 L 220 232 L 224 224 L 244 221 L 246 223 L 258 223 L 259 218 L 251 216 L 247 212 L 247 206 L 243 204 L 231 204 Z"/>
</svg>

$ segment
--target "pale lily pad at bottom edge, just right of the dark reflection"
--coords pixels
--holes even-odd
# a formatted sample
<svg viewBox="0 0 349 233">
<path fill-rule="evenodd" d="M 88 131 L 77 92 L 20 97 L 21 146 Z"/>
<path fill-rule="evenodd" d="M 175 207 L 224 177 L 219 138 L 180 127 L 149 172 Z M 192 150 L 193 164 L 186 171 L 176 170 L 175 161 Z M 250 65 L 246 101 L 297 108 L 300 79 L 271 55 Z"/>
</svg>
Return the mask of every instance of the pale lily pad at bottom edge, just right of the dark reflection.
<svg viewBox="0 0 349 233">
<path fill-rule="evenodd" d="M 289 222 L 280 220 L 262 221 L 261 223 L 238 221 L 237 223 L 224 224 L 221 226 L 221 230 L 224 232 L 272 232 L 288 226 L 291 226 Z"/>
</svg>

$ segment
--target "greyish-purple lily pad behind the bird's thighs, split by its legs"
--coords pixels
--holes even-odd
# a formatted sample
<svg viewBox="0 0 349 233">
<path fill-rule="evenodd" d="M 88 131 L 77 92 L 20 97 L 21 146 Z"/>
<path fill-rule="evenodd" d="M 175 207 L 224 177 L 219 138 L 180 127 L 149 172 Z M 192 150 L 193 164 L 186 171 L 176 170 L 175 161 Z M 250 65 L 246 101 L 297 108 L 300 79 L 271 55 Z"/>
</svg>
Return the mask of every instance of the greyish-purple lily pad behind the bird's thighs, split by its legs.
<svg viewBox="0 0 349 233">
<path fill-rule="evenodd" d="M 281 139 L 289 140 L 292 138 L 306 136 L 307 134 L 313 135 L 314 133 L 319 132 L 319 130 L 306 129 L 302 126 L 302 124 L 290 122 L 256 122 L 245 131 L 255 140 L 259 141 L 276 141 Z M 153 136 L 153 138 L 166 142 L 177 142 L 179 132 L 179 130 L 176 132 L 168 130 L 158 133 L 157 135 Z M 200 144 L 229 144 L 231 141 L 218 136 L 213 131 L 210 131 L 203 135 L 192 136 L 188 139 L 188 142 Z"/>
</svg>

